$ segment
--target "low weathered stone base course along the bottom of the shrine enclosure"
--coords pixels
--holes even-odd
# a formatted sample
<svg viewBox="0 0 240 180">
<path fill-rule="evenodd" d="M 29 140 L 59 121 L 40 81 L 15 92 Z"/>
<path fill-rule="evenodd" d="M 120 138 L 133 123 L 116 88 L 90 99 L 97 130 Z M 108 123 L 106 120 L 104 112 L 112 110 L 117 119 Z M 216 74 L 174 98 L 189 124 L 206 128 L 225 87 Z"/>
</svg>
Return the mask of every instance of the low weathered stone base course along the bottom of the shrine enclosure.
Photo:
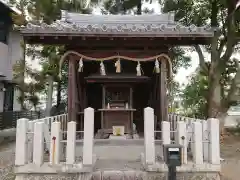
<svg viewBox="0 0 240 180">
<path fill-rule="evenodd" d="M 96 171 L 76 174 L 24 174 L 16 180 L 168 180 L 167 173 L 150 173 L 144 171 Z M 220 180 L 217 173 L 178 173 L 177 180 Z"/>
</svg>

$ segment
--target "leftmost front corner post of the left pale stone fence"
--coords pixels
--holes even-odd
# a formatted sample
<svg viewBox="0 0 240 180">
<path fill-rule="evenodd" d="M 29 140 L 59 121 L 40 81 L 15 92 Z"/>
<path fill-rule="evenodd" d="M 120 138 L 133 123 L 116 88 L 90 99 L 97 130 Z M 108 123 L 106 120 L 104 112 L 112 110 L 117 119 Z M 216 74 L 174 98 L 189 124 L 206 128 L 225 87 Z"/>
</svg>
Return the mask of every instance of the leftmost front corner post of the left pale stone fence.
<svg viewBox="0 0 240 180">
<path fill-rule="evenodd" d="M 15 151 L 15 165 L 20 166 L 27 163 L 27 131 L 28 119 L 21 118 L 17 120 L 16 128 L 16 151 Z"/>
</svg>

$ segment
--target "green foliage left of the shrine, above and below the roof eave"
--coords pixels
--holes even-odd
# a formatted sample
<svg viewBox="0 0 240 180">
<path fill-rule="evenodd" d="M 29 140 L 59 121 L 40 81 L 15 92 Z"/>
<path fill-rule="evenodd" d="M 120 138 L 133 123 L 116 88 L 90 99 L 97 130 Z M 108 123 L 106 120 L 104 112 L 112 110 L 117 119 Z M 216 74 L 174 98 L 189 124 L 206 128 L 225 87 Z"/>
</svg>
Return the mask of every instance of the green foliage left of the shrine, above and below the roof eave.
<svg viewBox="0 0 240 180">
<path fill-rule="evenodd" d="M 92 1 L 92 4 L 97 1 Z M 45 22 L 52 23 L 60 17 L 60 10 L 68 10 L 80 13 L 91 13 L 91 8 L 83 9 L 82 1 L 67 1 L 67 0 L 10 0 L 10 4 L 16 6 L 21 12 L 21 15 L 13 15 L 14 23 L 16 25 L 25 25 L 26 19 L 34 21 L 35 23 Z M 53 76 L 54 81 L 59 83 L 59 91 L 66 89 L 67 79 L 58 78 L 59 60 L 63 54 L 64 47 L 58 46 L 27 46 L 22 43 L 24 49 L 24 57 L 16 62 L 13 66 L 14 81 L 17 87 L 21 90 L 21 97 L 19 101 L 22 108 L 25 108 L 25 103 L 30 103 L 36 109 L 39 104 L 39 94 L 45 93 L 48 87 L 46 83 L 47 76 Z M 41 71 L 30 68 L 25 62 L 25 57 L 31 57 L 33 60 L 40 60 Z M 63 68 L 66 71 L 66 68 Z M 32 79 L 30 83 L 26 83 L 25 79 L 29 77 Z M 60 96 L 61 97 L 61 96 Z"/>
</svg>

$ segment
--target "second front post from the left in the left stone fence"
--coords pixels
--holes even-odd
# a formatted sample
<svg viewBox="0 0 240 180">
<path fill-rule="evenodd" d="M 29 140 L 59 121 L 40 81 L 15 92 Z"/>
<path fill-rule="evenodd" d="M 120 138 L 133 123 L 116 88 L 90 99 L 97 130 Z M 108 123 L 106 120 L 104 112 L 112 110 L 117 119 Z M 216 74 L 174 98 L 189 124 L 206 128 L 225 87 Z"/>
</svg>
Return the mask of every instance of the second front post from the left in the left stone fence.
<svg viewBox="0 0 240 180">
<path fill-rule="evenodd" d="M 44 159 L 44 123 L 37 122 L 34 125 L 33 138 L 33 164 L 41 166 Z"/>
</svg>

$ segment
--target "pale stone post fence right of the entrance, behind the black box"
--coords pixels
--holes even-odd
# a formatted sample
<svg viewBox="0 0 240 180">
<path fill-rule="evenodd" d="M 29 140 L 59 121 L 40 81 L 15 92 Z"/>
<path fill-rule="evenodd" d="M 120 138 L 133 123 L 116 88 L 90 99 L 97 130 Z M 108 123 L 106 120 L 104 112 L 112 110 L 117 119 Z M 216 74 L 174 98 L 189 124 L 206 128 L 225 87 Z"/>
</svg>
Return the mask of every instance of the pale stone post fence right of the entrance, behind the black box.
<svg viewBox="0 0 240 180">
<path fill-rule="evenodd" d="M 169 122 L 163 121 L 161 124 L 162 144 L 181 144 L 184 164 L 187 164 L 188 161 L 194 164 L 203 164 L 204 162 L 220 164 L 218 119 L 200 120 L 175 114 L 169 114 L 168 119 Z M 148 107 L 144 109 L 146 164 L 154 164 L 156 161 L 154 137 L 154 110 Z"/>
</svg>

